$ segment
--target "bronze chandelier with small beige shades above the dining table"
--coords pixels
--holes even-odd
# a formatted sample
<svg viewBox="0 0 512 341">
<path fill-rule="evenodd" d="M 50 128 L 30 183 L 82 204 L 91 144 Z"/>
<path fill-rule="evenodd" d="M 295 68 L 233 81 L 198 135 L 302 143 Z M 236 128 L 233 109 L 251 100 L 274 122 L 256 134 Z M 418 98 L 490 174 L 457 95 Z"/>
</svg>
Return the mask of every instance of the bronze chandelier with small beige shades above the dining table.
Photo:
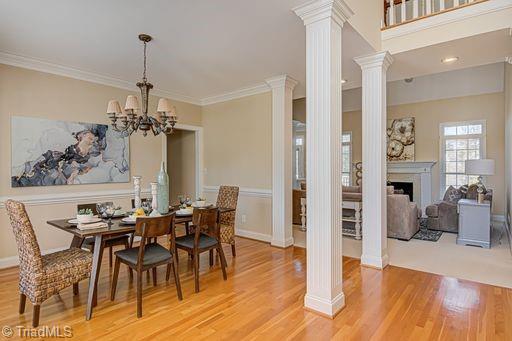
<svg viewBox="0 0 512 341">
<path fill-rule="evenodd" d="M 107 115 L 112 121 L 114 130 L 121 133 L 131 135 L 140 130 L 146 136 L 148 131 L 151 130 L 155 136 L 160 133 L 171 134 L 178 118 L 176 117 L 176 108 L 172 106 L 168 99 L 160 98 L 158 100 L 156 111 L 159 119 L 148 115 L 149 91 L 153 89 L 153 84 L 149 83 L 146 78 L 146 45 L 152 38 L 147 34 L 139 34 L 139 40 L 144 43 L 144 71 L 142 73 L 142 82 L 137 83 L 142 100 L 142 112 L 140 115 L 137 115 L 137 111 L 140 109 L 139 100 L 137 96 L 129 95 L 126 98 L 124 111 L 121 110 L 121 105 L 118 101 L 109 101 Z M 120 122 L 119 124 L 118 121 Z"/>
</svg>

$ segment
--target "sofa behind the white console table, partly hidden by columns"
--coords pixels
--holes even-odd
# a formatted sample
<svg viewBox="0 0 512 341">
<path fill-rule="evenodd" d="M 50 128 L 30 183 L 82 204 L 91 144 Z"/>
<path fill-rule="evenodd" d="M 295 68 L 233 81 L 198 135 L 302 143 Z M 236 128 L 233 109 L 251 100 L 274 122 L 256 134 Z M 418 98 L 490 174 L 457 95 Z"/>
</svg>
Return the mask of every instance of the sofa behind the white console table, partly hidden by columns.
<svg viewBox="0 0 512 341">
<path fill-rule="evenodd" d="M 361 186 L 343 186 L 344 201 L 362 201 Z M 293 190 L 293 224 L 301 224 L 300 199 L 306 197 L 306 185 Z M 364 210 L 364 207 L 363 207 Z M 343 209 L 343 215 L 350 215 L 349 209 Z M 396 194 L 393 186 L 387 186 L 387 225 L 388 237 L 409 240 L 419 231 L 421 210 L 416 203 L 410 202 L 406 194 Z M 363 222 L 364 224 L 364 222 Z"/>
</svg>

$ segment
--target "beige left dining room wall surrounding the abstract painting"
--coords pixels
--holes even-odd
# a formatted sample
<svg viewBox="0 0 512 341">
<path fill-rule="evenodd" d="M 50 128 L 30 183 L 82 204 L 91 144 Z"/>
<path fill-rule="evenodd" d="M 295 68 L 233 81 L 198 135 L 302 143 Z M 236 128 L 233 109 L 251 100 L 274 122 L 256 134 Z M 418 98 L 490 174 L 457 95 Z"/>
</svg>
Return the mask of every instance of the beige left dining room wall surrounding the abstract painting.
<svg viewBox="0 0 512 341">
<path fill-rule="evenodd" d="M 130 91 L 95 83 L 31 71 L 0 64 L 0 197 L 37 194 L 94 192 L 131 188 L 130 183 L 76 185 L 55 187 L 10 187 L 10 117 L 12 115 L 45 117 L 50 119 L 108 123 L 105 115 L 107 101 L 124 101 Z M 156 109 L 157 98 L 151 97 L 149 107 Z M 176 105 L 180 123 L 200 125 L 199 106 L 182 102 Z M 130 138 L 131 175 L 142 175 L 143 185 L 154 179 L 162 159 L 161 137 Z M 116 201 L 128 207 L 129 199 Z M 49 219 L 71 217 L 76 208 L 72 204 L 28 206 L 42 250 L 69 245 L 70 235 L 46 225 Z M 0 260 L 16 256 L 14 237 L 5 213 L 0 208 Z"/>
</svg>

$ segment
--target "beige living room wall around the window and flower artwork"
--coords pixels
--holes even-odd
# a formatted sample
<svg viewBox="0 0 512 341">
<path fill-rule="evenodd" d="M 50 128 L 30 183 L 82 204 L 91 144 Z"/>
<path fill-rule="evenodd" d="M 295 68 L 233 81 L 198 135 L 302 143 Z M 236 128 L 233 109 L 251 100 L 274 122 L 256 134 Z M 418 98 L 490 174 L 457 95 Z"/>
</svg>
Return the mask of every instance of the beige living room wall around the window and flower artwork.
<svg viewBox="0 0 512 341">
<path fill-rule="evenodd" d="M 504 94 L 458 97 L 388 107 L 388 118 L 415 117 L 416 161 L 439 161 L 439 124 L 465 120 L 487 121 L 487 158 L 496 161 L 496 174 L 486 180 L 495 192 L 494 214 L 505 210 L 505 115 Z M 352 131 L 353 161 L 361 160 L 361 112 L 343 114 L 343 130 Z M 439 165 L 433 168 L 432 198 L 439 198 Z"/>
</svg>

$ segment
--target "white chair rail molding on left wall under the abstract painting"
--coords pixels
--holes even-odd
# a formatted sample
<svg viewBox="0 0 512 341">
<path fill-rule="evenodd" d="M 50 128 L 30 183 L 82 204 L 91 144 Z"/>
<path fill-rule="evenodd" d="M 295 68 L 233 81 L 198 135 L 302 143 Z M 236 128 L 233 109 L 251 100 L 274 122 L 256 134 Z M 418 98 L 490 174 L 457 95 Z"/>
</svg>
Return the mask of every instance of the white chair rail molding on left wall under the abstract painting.
<svg viewBox="0 0 512 341">
<path fill-rule="evenodd" d="M 144 196 L 149 196 L 151 191 L 149 188 L 143 189 L 141 192 Z M 27 206 L 52 205 L 76 203 L 91 200 L 106 200 L 129 198 L 133 196 L 133 189 L 120 189 L 109 191 L 90 191 L 90 192 L 69 192 L 69 193 L 50 193 L 50 194 L 31 194 L 31 195 L 8 195 L 0 197 L 0 208 L 5 207 L 8 199 L 21 201 Z"/>
</svg>

